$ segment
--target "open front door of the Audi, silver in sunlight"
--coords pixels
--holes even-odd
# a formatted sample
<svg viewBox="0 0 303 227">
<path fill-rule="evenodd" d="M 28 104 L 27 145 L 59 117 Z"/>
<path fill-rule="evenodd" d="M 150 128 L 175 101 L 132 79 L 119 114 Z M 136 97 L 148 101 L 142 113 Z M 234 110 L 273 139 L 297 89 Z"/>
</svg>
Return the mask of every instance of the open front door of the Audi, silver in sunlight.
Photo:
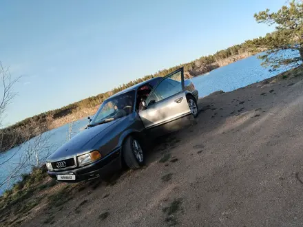
<svg viewBox="0 0 303 227">
<path fill-rule="evenodd" d="M 182 127 L 176 120 L 191 113 L 184 90 L 183 67 L 163 77 L 145 102 L 146 109 L 139 111 L 145 129 L 160 128 L 167 132 Z"/>
</svg>

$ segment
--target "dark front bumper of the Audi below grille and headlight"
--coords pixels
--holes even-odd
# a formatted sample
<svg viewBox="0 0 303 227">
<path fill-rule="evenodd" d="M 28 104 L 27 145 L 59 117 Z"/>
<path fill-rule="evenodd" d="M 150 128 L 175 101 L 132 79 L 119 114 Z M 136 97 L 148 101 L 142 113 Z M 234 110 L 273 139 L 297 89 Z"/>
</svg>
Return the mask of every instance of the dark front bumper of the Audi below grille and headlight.
<svg viewBox="0 0 303 227">
<path fill-rule="evenodd" d="M 121 149 L 109 153 L 101 160 L 98 160 L 87 166 L 76 167 L 68 171 L 48 171 L 50 177 L 56 178 L 56 175 L 74 174 L 76 180 L 60 180 L 60 182 L 81 182 L 83 180 L 92 180 L 107 175 L 121 169 Z"/>
</svg>

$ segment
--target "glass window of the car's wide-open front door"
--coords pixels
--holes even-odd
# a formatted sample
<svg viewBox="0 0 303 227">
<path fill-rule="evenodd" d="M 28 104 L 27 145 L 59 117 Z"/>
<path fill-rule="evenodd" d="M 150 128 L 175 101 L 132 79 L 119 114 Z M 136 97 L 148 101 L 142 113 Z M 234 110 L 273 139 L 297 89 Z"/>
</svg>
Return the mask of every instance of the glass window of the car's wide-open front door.
<svg viewBox="0 0 303 227">
<path fill-rule="evenodd" d="M 159 102 L 160 100 L 174 96 L 174 94 L 182 91 L 181 76 L 181 71 L 179 71 L 171 76 L 163 78 L 155 87 L 154 91 L 151 91 L 151 94 L 147 97 L 147 105 Z"/>
</svg>

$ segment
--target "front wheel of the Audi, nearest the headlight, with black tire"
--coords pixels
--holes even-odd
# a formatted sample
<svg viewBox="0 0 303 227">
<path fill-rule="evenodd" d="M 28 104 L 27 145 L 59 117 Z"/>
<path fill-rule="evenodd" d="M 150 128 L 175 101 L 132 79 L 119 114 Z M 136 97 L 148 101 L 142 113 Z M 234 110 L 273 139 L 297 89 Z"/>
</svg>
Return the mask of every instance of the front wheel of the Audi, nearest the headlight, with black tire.
<svg viewBox="0 0 303 227">
<path fill-rule="evenodd" d="M 128 136 L 123 143 L 123 158 L 125 164 L 130 169 L 138 169 L 143 166 L 145 158 L 139 141 L 132 136 Z"/>
</svg>

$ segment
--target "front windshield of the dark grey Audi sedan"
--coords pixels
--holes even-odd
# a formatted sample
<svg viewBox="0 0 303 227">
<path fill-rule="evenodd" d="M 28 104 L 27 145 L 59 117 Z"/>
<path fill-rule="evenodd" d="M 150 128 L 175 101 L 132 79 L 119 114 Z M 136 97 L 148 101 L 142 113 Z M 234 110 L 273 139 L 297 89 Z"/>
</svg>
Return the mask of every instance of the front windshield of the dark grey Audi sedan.
<svg viewBox="0 0 303 227">
<path fill-rule="evenodd" d="M 98 125 L 131 114 L 134 109 L 134 97 L 135 91 L 129 91 L 105 100 L 90 125 Z"/>
</svg>

